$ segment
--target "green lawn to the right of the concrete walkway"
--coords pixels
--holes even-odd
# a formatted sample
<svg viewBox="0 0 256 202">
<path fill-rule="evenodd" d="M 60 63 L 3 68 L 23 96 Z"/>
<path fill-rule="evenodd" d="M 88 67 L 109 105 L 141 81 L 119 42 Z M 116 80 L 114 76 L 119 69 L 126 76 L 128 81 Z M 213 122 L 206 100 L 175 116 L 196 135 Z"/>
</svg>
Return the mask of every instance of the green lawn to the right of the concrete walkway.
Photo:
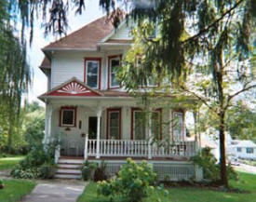
<svg viewBox="0 0 256 202">
<path fill-rule="evenodd" d="M 168 189 L 168 195 L 161 195 L 162 202 L 256 202 L 256 175 L 248 173 L 239 173 L 239 182 L 230 182 L 234 188 L 249 191 L 249 194 L 235 194 L 199 189 L 193 187 L 179 187 Z M 77 202 L 107 202 L 109 199 L 97 195 L 96 183 L 90 182 Z M 157 201 L 157 193 L 146 198 L 144 202 Z M 121 202 L 122 199 L 115 199 L 115 202 Z"/>
</svg>

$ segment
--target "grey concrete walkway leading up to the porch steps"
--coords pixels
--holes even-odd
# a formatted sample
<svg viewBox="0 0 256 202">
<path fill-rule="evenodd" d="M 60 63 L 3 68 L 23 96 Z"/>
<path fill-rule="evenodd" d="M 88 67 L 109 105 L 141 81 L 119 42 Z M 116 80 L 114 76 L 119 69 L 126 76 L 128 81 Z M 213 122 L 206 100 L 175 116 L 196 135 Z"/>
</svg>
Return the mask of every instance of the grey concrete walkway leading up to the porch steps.
<svg viewBox="0 0 256 202">
<path fill-rule="evenodd" d="M 80 181 L 38 182 L 30 195 L 22 202 L 75 202 L 85 189 L 86 183 Z"/>
</svg>

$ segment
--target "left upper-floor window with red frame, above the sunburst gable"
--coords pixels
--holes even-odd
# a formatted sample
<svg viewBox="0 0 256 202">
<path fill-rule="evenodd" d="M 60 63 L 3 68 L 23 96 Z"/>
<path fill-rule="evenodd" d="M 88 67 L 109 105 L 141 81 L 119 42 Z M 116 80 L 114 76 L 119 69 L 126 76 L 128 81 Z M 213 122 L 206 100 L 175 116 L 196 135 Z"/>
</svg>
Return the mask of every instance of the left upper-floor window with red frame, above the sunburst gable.
<svg viewBox="0 0 256 202">
<path fill-rule="evenodd" d="M 85 83 L 90 88 L 101 88 L 101 59 L 85 59 Z"/>
</svg>

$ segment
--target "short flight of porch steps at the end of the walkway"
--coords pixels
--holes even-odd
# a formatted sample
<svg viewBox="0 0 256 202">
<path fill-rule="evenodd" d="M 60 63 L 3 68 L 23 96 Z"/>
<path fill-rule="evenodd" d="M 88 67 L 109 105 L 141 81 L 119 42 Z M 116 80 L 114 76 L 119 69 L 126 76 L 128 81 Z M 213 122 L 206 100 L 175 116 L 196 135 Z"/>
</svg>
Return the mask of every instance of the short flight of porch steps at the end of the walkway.
<svg viewBox="0 0 256 202">
<path fill-rule="evenodd" d="M 54 177 L 58 179 L 81 179 L 83 163 L 83 159 L 60 157 Z"/>
</svg>

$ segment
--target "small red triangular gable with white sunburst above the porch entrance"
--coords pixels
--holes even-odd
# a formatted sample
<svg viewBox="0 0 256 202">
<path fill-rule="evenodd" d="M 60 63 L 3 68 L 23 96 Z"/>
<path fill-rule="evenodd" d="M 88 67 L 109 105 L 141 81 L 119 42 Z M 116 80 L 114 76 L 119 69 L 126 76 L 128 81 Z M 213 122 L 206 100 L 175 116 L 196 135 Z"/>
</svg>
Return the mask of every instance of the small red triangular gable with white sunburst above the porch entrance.
<svg viewBox="0 0 256 202">
<path fill-rule="evenodd" d="M 77 78 L 73 77 L 70 80 L 64 82 L 56 88 L 52 88 L 48 92 L 39 96 L 40 99 L 47 98 L 48 96 L 68 96 L 68 97 L 95 97 L 102 96 L 101 92 L 88 87 Z"/>
</svg>

